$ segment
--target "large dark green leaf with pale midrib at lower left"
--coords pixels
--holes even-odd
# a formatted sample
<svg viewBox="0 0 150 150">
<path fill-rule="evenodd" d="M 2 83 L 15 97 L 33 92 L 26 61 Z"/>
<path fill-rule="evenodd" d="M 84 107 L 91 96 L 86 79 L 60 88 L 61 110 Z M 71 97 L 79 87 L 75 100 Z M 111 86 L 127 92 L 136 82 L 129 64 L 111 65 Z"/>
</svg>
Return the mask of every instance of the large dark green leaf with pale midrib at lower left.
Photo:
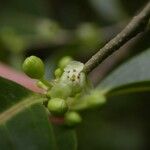
<svg viewBox="0 0 150 150">
<path fill-rule="evenodd" d="M 42 104 L 44 98 L 0 78 L 0 148 L 3 150 L 75 150 L 75 132 L 59 132 Z M 55 133 L 57 133 L 55 135 Z M 57 138 L 57 135 L 61 138 Z M 65 141 L 65 142 L 63 142 Z M 65 149 L 66 150 L 66 149 Z"/>
</svg>

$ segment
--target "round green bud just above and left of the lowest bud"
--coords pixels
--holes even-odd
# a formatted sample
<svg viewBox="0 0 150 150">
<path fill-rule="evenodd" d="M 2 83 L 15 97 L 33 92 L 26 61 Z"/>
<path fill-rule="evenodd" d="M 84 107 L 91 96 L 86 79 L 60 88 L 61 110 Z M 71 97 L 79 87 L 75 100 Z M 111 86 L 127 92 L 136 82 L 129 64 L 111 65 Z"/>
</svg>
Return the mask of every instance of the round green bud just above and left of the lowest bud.
<svg viewBox="0 0 150 150">
<path fill-rule="evenodd" d="M 62 116 L 68 110 L 68 105 L 64 99 L 53 98 L 48 102 L 48 110 L 55 116 Z"/>
</svg>

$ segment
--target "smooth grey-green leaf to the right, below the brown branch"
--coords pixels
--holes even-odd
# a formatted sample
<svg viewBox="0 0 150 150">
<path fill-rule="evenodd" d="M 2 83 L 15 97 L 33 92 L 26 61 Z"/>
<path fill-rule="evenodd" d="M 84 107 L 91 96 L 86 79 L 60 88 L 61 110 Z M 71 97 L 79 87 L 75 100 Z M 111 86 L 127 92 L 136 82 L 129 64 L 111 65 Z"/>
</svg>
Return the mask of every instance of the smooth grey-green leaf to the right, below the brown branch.
<svg viewBox="0 0 150 150">
<path fill-rule="evenodd" d="M 135 56 L 108 75 L 99 85 L 107 92 L 139 92 L 150 88 L 150 49 Z"/>
</svg>

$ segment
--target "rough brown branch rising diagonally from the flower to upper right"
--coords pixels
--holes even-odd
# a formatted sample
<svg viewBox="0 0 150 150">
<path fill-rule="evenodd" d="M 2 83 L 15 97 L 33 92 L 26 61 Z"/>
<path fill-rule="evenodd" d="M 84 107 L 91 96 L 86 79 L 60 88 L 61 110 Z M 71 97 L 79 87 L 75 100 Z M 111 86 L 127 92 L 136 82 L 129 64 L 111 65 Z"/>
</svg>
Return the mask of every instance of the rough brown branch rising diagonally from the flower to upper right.
<svg viewBox="0 0 150 150">
<path fill-rule="evenodd" d="M 127 41 L 135 37 L 137 34 L 143 32 L 150 19 L 150 2 L 144 9 L 129 22 L 129 24 L 111 41 L 109 41 L 103 48 L 101 48 L 95 55 L 92 56 L 85 63 L 85 71 L 91 72 L 109 55 L 117 51 Z"/>
</svg>

